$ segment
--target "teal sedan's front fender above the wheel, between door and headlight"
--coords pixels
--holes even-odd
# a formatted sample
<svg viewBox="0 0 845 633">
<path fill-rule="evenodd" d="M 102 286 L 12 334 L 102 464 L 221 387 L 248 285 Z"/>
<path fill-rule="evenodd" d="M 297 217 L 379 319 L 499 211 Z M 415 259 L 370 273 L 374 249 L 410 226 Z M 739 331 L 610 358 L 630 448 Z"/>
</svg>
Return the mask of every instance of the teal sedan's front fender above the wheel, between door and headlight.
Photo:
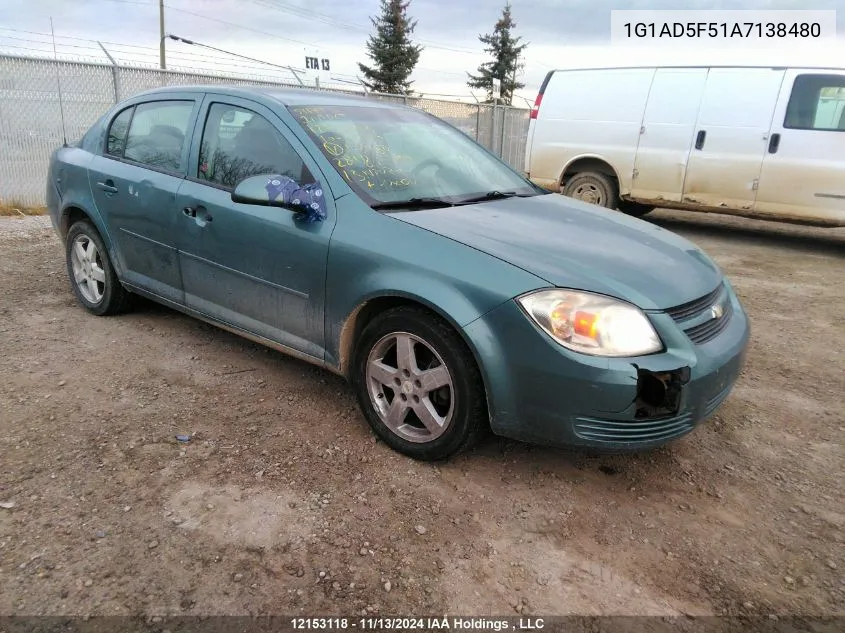
<svg viewBox="0 0 845 633">
<path fill-rule="evenodd" d="M 357 199 L 356 199 L 357 201 Z M 364 206 L 338 209 L 326 275 L 326 363 L 344 368 L 356 317 L 375 299 L 402 298 L 458 332 L 497 305 L 548 285 L 449 238 Z"/>
</svg>

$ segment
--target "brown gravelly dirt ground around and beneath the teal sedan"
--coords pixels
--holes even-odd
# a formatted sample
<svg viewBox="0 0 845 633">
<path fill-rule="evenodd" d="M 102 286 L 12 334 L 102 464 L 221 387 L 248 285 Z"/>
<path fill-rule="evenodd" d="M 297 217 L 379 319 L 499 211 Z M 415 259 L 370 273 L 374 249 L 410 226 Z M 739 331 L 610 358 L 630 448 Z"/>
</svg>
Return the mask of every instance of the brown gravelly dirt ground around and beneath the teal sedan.
<svg viewBox="0 0 845 633">
<path fill-rule="evenodd" d="M 750 313 L 715 417 L 432 466 L 328 372 L 149 303 L 90 316 L 43 219 L 0 219 L 0 614 L 844 614 L 845 232 L 651 221 Z"/>
</svg>

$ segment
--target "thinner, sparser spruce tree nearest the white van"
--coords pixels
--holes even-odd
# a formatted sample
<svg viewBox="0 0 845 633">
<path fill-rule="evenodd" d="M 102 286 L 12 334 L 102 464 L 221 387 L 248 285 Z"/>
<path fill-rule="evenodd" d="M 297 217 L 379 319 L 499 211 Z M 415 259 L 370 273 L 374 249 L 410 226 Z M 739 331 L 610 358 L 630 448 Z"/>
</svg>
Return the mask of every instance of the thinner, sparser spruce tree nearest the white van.
<svg viewBox="0 0 845 633">
<path fill-rule="evenodd" d="M 478 39 L 485 44 L 484 50 L 490 53 L 493 61 L 484 62 L 478 67 L 478 74 L 469 76 L 467 85 L 470 88 L 481 88 L 487 93 L 487 102 L 493 102 L 493 79 L 498 79 L 502 84 L 501 99 L 510 105 L 513 102 L 513 93 L 525 84 L 516 81 L 516 71 L 522 67 L 519 63 L 519 56 L 528 46 L 528 43 L 520 44 L 521 37 L 514 37 L 511 30 L 516 22 L 511 17 L 510 3 L 502 10 L 502 17 L 496 22 L 492 33 L 479 35 Z"/>
</svg>

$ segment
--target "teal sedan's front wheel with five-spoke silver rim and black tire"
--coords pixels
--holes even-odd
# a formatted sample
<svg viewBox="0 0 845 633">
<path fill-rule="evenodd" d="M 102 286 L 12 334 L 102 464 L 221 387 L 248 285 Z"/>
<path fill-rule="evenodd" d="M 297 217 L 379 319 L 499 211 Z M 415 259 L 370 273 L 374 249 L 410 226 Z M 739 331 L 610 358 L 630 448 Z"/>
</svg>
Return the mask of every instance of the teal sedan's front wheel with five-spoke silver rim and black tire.
<svg viewBox="0 0 845 633">
<path fill-rule="evenodd" d="M 413 459 L 464 451 L 487 423 L 475 359 L 453 328 L 420 308 L 387 310 L 364 328 L 352 384 L 376 435 Z"/>
</svg>

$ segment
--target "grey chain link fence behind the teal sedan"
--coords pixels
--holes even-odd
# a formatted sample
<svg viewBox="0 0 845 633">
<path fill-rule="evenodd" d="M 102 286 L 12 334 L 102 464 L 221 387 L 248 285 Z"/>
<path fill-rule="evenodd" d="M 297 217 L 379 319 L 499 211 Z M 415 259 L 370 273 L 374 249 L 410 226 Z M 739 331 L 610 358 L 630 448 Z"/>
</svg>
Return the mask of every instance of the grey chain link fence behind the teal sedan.
<svg viewBox="0 0 845 633">
<path fill-rule="evenodd" d="M 59 86 L 61 84 L 61 102 Z M 44 204 L 50 154 L 82 137 L 113 104 L 151 88 L 191 84 L 303 86 L 258 76 L 223 76 L 0 55 L 0 201 Z M 307 87 L 306 87 L 307 88 Z M 325 90 L 325 89 L 324 89 Z M 332 92 L 362 94 L 352 90 Z M 529 111 L 508 106 L 376 95 L 433 114 L 477 140 L 518 170 L 523 168 Z"/>
</svg>

